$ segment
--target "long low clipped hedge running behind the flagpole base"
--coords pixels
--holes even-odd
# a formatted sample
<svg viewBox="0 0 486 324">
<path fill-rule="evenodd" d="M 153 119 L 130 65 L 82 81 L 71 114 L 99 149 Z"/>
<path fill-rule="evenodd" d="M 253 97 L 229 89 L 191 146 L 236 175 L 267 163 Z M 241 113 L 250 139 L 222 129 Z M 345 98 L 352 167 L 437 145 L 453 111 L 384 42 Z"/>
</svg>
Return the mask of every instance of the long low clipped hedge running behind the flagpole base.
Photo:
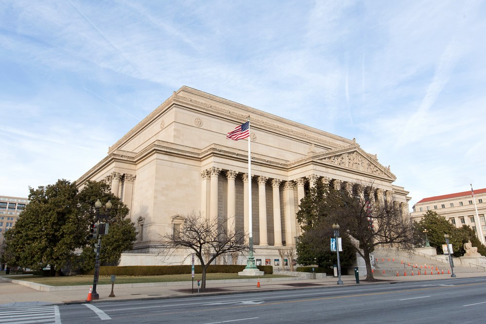
<svg viewBox="0 0 486 324">
<path fill-rule="evenodd" d="M 243 271 L 244 265 L 210 265 L 207 273 L 238 273 Z M 265 274 L 272 274 L 272 266 L 257 266 L 260 271 Z M 164 275 L 164 274 L 190 274 L 191 265 L 180 266 L 122 266 L 122 267 L 100 267 L 100 275 Z M 194 273 L 202 273 L 200 265 L 194 266 Z M 94 274 L 94 269 L 85 272 L 84 274 Z"/>
</svg>

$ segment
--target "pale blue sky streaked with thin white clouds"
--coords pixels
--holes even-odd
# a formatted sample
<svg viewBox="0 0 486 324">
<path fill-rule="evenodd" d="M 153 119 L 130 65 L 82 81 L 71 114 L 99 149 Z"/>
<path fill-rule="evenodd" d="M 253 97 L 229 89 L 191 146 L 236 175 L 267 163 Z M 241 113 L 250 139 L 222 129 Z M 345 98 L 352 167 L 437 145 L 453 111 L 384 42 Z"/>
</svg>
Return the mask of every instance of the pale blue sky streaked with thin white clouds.
<svg viewBox="0 0 486 324">
<path fill-rule="evenodd" d="M 0 194 L 75 181 L 182 85 L 486 188 L 485 1 L 0 2 Z"/>
</svg>

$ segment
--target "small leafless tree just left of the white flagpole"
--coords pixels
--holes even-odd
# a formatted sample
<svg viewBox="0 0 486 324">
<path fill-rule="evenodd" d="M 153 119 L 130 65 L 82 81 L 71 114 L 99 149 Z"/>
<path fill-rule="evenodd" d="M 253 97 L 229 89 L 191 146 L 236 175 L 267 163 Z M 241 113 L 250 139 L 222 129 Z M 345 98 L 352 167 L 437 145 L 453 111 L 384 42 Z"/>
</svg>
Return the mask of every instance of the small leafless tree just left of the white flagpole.
<svg viewBox="0 0 486 324">
<path fill-rule="evenodd" d="M 243 253 L 249 249 L 245 243 L 245 233 L 228 230 L 226 223 L 207 220 L 201 212 L 179 217 L 182 225 L 174 228 L 174 233 L 163 236 L 162 246 L 172 251 L 181 248 L 194 251 L 202 267 L 201 289 L 206 288 L 207 269 L 215 258 L 224 254 Z"/>
</svg>

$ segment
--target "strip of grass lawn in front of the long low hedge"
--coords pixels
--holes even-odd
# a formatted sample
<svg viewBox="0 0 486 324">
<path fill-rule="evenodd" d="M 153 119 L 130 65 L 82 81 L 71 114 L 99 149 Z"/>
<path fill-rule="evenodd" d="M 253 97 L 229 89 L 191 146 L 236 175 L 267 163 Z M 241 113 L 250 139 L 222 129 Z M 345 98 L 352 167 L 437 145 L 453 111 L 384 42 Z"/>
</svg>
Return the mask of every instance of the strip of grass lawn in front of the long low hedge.
<svg viewBox="0 0 486 324">
<path fill-rule="evenodd" d="M 220 279 L 249 279 L 249 278 L 284 278 L 290 277 L 288 275 L 279 274 L 265 274 L 261 276 L 239 276 L 238 273 L 208 273 L 206 280 L 220 280 Z M 41 277 L 34 275 L 9 275 L 8 278 L 32 281 L 38 284 L 48 286 L 81 286 L 92 285 L 93 276 L 76 275 L 69 277 Z M 201 279 L 201 273 L 194 274 L 194 281 Z M 146 282 L 173 282 L 173 281 L 191 281 L 191 274 L 167 274 L 167 275 L 148 275 L 139 277 L 117 276 L 115 284 L 135 284 Z M 98 279 L 99 285 L 111 284 L 109 276 L 100 276 Z"/>
</svg>

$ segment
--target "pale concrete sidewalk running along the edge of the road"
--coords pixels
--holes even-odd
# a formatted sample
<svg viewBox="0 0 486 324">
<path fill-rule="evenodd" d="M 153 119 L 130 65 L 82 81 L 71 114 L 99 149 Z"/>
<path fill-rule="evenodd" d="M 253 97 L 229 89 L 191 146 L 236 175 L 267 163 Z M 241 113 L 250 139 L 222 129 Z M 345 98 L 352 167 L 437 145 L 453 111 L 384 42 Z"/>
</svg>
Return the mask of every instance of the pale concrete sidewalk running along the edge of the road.
<svg viewBox="0 0 486 324">
<path fill-rule="evenodd" d="M 486 273 L 461 273 L 458 278 L 486 276 Z M 65 290 L 39 291 L 25 287 L 0 277 L 0 307 L 22 307 L 38 305 L 64 305 L 85 303 L 89 286 L 63 287 Z M 284 280 L 285 279 L 285 280 Z M 290 279 L 290 280 L 289 280 Z M 380 281 L 368 283 L 364 282 L 364 277 L 360 277 L 360 285 L 389 284 L 402 281 L 425 281 L 436 279 L 451 279 L 449 274 L 437 275 L 415 275 L 379 278 Z M 10 279 L 11 280 L 11 279 Z M 354 276 L 342 276 L 345 286 L 357 285 Z M 221 295 L 246 292 L 261 292 L 272 290 L 294 290 L 300 288 L 325 288 L 336 287 L 337 278 L 327 277 L 323 279 L 301 279 L 295 278 L 260 278 L 260 288 L 257 287 L 257 279 L 236 279 L 236 280 L 208 280 L 207 290 L 204 293 L 197 293 L 197 282 L 194 282 L 194 293 L 191 293 L 191 281 L 177 283 L 147 283 L 133 285 L 114 286 L 116 297 L 108 297 L 111 292 L 111 285 L 99 285 L 97 292 L 100 299 L 92 303 L 106 301 L 126 301 L 126 300 L 148 300 L 163 298 L 187 298 L 200 295 Z M 123 287 L 125 286 L 125 287 Z M 130 286 L 130 287 L 126 287 Z M 76 290 L 69 290 L 69 289 Z"/>
</svg>

